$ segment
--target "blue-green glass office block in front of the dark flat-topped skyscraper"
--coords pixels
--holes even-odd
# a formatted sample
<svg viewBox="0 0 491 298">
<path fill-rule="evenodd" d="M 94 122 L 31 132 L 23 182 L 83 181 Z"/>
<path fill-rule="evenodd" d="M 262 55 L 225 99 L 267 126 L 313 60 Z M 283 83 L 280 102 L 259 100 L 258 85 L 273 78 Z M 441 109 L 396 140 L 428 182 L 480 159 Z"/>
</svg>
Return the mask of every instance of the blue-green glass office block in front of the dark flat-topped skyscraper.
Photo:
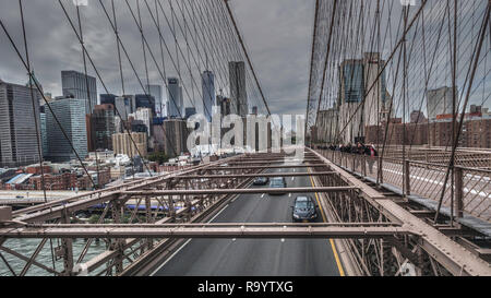
<svg viewBox="0 0 491 298">
<path fill-rule="evenodd" d="M 86 105 L 86 99 L 77 98 L 58 99 L 50 104 L 53 114 L 81 158 L 87 156 Z M 47 159 L 69 162 L 76 158 L 70 142 L 65 139 L 49 109 L 46 110 L 46 130 L 49 140 Z"/>
</svg>

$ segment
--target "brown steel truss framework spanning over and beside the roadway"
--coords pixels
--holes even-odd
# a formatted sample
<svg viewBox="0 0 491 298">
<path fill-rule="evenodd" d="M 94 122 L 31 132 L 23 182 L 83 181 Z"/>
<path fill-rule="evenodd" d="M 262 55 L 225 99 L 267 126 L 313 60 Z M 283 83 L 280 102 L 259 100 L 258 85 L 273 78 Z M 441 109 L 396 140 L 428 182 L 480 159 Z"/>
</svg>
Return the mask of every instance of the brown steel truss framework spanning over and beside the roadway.
<svg viewBox="0 0 491 298">
<path fill-rule="evenodd" d="M 187 238 L 330 238 L 343 239 L 362 275 L 399 275 L 408 263 L 418 275 L 491 275 L 489 263 L 405 210 L 404 201 L 385 196 L 322 154 L 308 150 L 302 163 L 288 160 L 273 153 L 236 156 L 15 211 L 11 220 L 0 223 L 0 252 L 27 260 L 47 274 L 85 270 L 91 275 L 133 275 Z M 252 178 L 272 176 L 263 174 L 266 169 L 297 167 L 312 171 L 274 176 L 310 176 L 315 188 L 248 188 Z M 264 192 L 316 193 L 331 223 L 205 224 L 236 195 Z M 87 212 L 100 216 L 80 220 L 77 215 Z M 36 251 L 28 258 L 8 248 L 12 238 L 36 238 L 41 245 L 60 239 L 62 269 L 39 263 Z M 77 253 L 75 239 L 86 241 Z M 106 249 L 88 259 L 100 239 Z M 12 267 L 4 258 L 0 261 Z"/>
</svg>

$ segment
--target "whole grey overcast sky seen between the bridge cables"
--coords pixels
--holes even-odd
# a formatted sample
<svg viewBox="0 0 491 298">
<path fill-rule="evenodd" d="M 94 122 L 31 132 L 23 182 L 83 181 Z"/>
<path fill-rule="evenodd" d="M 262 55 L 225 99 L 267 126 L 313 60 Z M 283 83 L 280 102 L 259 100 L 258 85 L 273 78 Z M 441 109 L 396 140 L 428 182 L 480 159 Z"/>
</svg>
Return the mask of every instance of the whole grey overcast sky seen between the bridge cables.
<svg viewBox="0 0 491 298">
<path fill-rule="evenodd" d="M 136 0 L 128 0 L 133 11 L 136 11 Z M 152 7 L 155 0 L 147 0 Z M 164 11 L 167 13 L 167 17 L 170 19 L 170 0 L 160 0 Z M 195 0 L 193 3 L 211 3 L 212 0 Z M 214 0 L 218 1 L 218 0 Z M 400 4 L 397 0 L 393 0 L 395 8 L 400 11 Z M 31 60 L 36 71 L 36 76 L 43 84 L 46 92 L 52 93 L 53 96 L 61 95 L 61 70 L 77 70 L 83 71 L 81 46 L 73 29 L 63 14 L 63 11 L 58 3 L 58 0 L 25 0 L 24 13 L 26 17 L 26 29 L 28 37 L 28 47 L 31 53 Z M 76 25 L 76 12 L 72 0 L 62 0 L 70 17 Z M 129 53 L 129 57 L 135 68 L 136 74 L 140 78 L 142 84 L 146 83 L 145 63 L 142 53 L 142 39 L 137 26 L 128 9 L 124 0 L 116 0 L 117 15 L 119 32 L 121 34 L 121 40 Z M 156 26 L 152 23 L 151 15 L 142 3 L 142 19 L 145 36 L 149 44 L 149 50 L 156 57 L 157 63 L 160 64 L 160 49 L 159 49 L 159 36 L 156 31 Z M 179 14 L 179 8 L 177 3 L 190 3 L 190 1 L 176 1 L 175 10 Z M 430 1 L 430 4 L 426 9 L 426 33 L 428 37 L 428 56 L 431 57 L 433 52 L 433 44 L 435 44 L 439 31 L 439 24 L 441 20 L 442 3 L 446 1 Z M 13 39 L 20 47 L 20 50 L 24 52 L 22 27 L 20 23 L 19 2 L 12 0 L 0 0 L 0 17 L 7 25 Z M 103 3 L 111 14 L 110 1 L 103 0 Z M 309 70 L 310 70 L 310 56 L 312 46 L 312 32 L 313 32 L 313 17 L 314 17 L 314 4 L 315 0 L 231 0 L 230 2 L 233 14 L 236 15 L 239 28 L 242 33 L 246 44 L 248 46 L 249 53 L 254 64 L 260 83 L 263 87 L 264 94 L 268 102 L 272 112 L 274 114 L 300 114 L 304 115 L 307 107 L 308 84 L 309 84 Z M 373 2 L 369 2 L 373 3 Z M 385 3 L 385 1 L 383 1 Z M 457 73 L 457 84 L 459 87 L 464 85 L 466 79 L 466 70 L 468 62 L 466 57 L 472 52 L 475 40 L 479 29 L 481 16 L 483 14 L 483 8 L 486 7 L 486 0 L 468 0 L 459 1 L 462 7 L 459 13 L 459 71 Z M 153 9 L 153 8 L 152 8 Z M 386 5 L 385 10 L 388 10 Z M 155 10 L 154 10 L 155 11 Z M 412 9 L 415 13 L 417 9 Z M 104 86 L 107 87 L 109 93 L 117 95 L 122 94 L 121 80 L 119 74 L 119 63 L 117 56 L 116 38 L 111 29 L 110 23 L 107 20 L 99 0 L 88 0 L 88 7 L 84 7 L 81 10 L 83 29 L 85 37 L 85 45 L 91 57 L 100 73 L 103 80 L 97 80 L 97 86 L 99 93 L 106 93 Z M 202 13 L 203 14 L 203 13 Z M 384 59 L 387 58 L 394 44 L 397 41 L 396 36 L 397 24 L 399 23 L 399 12 L 396 10 L 391 13 L 392 21 L 387 21 L 387 13 L 384 14 L 384 22 L 392 22 L 393 32 L 392 39 L 386 39 L 387 45 L 384 46 Z M 206 15 L 207 16 L 207 15 Z M 179 22 L 179 15 L 177 22 Z M 391 17 L 388 17 L 391 20 Z M 182 21 L 182 19 L 181 19 Z M 194 20 L 193 20 L 194 21 Z M 148 64 L 148 79 L 151 84 L 160 84 L 165 86 L 163 76 L 177 76 L 180 73 L 184 93 L 184 105 L 190 106 L 193 102 L 197 106 L 197 110 L 201 111 L 201 81 L 200 72 L 204 70 L 204 62 L 200 62 L 197 52 L 196 59 L 183 59 L 182 55 L 177 55 L 179 59 L 176 59 L 176 45 L 173 36 L 170 31 L 170 26 L 165 22 L 160 15 L 160 22 L 163 25 L 164 39 L 168 43 L 168 50 L 165 49 L 165 64 L 166 73 L 161 73 L 163 70 L 155 67 L 155 62 L 147 49 L 147 64 Z M 171 20 L 170 20 L 171 22 Z M 188 22 L 191 22 L 188 19 Z M 197 26 L 200 23 L 195 21 Z M 367 25 L 367 27 L 370 27 Z M 385 25 L 382 25 L 382 32 Z M 415 26 L 417 27 L 417 26 Z M 180 48 L 183 50 L 183 55 L 187 56 L 187 44 L 183 41 L 182 33 L 177 28 L 178 39 Z M 421 36 L 421 31 L 416 32 L 417 36 Z M 446 33 L 446 24 L 445 31 Z M 412 34 L 412 33 L 411 33 Z M 408 40 L 411 40 L 411 34 Z M 386 33 L 385 33 L 386 35 Z M 367 31 L 367 36 L 371 36 L 370 31 Z M 450 85 L 450 63 L 447 55 L 447 36 L 442 38 L 440 49 L 438 51 L 438 61 L 433 70 L 433 78 L 429 87 L 441 87 L 443 85 Z M 191 41 L 190 41 L 191 43 Z M 368 45 L 368 43 L 366 43 Z M 417 45 L 421 45 L 419 39 L 416 40 Z M 478 70 L 476 76 L 476 83 L 472 92 L 472 104 L 484 104 L 489 106 L 488 98 L 491 93 L 488 83 L 490 81 L 489 64 L 491 63 L 491 55 L 489 45 L 491 40 L 486 40 L 488 47 L 484 47 L 481 57 L 481 67 Z M 350 59 L 351 51 L 345 50 L 343 59 Z M 209 55 L 209 53 L 208 53 Z M 417 47 L 411 53 L 411 68 L 409 69 L 409 105 L 412 109 L 419 109 L 421 99 L 424 99 L 424 84 L 421 83 L 423 76 L 421 74 L 422 55 L 421 47 Z M 122 53 L 122 68 L 124 76 L 125 94 L 141 94 L 143 93 L 141 84 L 134 74 L 128 59 Z M 217 57 L 218 55 L 211 56 L 208 61 L 208 69 L 211 69 L 216 76 L 215 84 L 217 92 L 221 88 L 226 95 L 228 93 L 228 69 L 226 67 L 227 61 L 230 58 Z M 169 58 L 173 57 L 173 61 Z M 463 58 L 464 57 L 464 58 Z M 204 60 L 201 57 L 201 60 Z M 359 57 L 358 57 L 359 58 Z M 216 59 L 216 60 L 214 60 Z M 178 60 L 178 61 L 177 61 Z M 218 61 L 218 63 L 215 63 Z M 394 60 L 393 60 L 394 61 Z M 220 64 L 221 63 L 221 64 Z M 338 63 L 338 61 L 336 62 Z M 321 63 L 322 65 L 323 63 Z M 189 73 L 189 68 L 192 69 L 192 75 Z M 393 65 L 390 67 L 390 71 L 393 70 Z M 178 72 L 177 69 L 180 69 Z M 387 71 L 388 72 L 388 71 Z M 88 73 L 96 76 L 92 67 L 88 67 Z M 332 72 L 330 72 L 330 75 Z M 163 75 L 164 74 L 164 75 Z M 400 86 L 396 87 L 394 92 L 391 85 L 393 78 L 398 75 L 391 75 L 387 73 L 387 88 L 390 93 L 394 95 L 395 100 L 399 100 L 402 96 L 398 95 L 397 90 L 400 91 Z M 336 75 L 334 75 L 336 78 Z M 26 71 L 22 67 L 19 58 L 12 49 L 9 40 L 3 32 L 0 31 L 0 79 L 12 82 L 25 84 L 27 82 Z M 104 85 L 103 85 L 104 82 Z M 250 81 L 251 82 L 251 81 Z M 400 85 L 402 80 L 398 81 Z M 327 85 L 327 91 L 335 91 L 336 85 Z M 412 91 L 415 88 L 416 91 Z M 399 92 L 400 93 L 400 92 Z M 334 94 L 337 94 L 334 92 Z M 417 94 L 417 95 L 412 95 Z M 255 92 L 248 91 L 250 107 L 258 105 L 260 109 L 262 104 L 259 95 Z M 167 97 L 167 95 L 165 96 Z M 164 98 L 166 99 L 166 98 Z M 192 100 L 193 99 L 193 100 Z M 334 98 L 335 99 L 335 98 Z M 400 100 L 399 100 L 400 102 Z M 424 111 L 423 105 L 423 111 Z M 264 109 L 263 109 L 264 110 Z"/>
</svg>

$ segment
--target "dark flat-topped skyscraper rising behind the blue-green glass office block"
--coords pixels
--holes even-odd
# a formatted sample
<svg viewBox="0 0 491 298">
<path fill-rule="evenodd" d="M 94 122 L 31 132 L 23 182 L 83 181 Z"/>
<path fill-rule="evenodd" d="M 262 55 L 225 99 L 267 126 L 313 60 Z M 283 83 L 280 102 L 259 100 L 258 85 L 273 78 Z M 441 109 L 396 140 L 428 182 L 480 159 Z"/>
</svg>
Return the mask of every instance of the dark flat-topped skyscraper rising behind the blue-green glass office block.
<svg viewBox="0 0 491 298">
<path fill-rule="evenodd" d="M 85 114 L 92 114 L 97 106 L 97 81 L 94 76 L 85 76 L 84 73 L 72 70 L 62 71 L 61 85 L 64 97 L 85 99 L 87 102 Z"/>
</svg>

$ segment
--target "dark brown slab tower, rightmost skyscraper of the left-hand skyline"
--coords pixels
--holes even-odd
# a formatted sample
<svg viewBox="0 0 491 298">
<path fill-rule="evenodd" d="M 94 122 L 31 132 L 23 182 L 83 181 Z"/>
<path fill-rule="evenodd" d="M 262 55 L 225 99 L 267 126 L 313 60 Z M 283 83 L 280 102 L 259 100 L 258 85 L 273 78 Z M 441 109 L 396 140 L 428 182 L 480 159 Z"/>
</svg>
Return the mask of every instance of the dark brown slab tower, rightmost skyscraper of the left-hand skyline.
<svg viewBox="0 0 491 298">
<path fill-rule="evenodd" d="M 246 90 L 246 63 L 243 61 L 228 62 L 230 96 L 232 112 L 241 117 L 249 114 L 248 94 Z"/>
</svg>

